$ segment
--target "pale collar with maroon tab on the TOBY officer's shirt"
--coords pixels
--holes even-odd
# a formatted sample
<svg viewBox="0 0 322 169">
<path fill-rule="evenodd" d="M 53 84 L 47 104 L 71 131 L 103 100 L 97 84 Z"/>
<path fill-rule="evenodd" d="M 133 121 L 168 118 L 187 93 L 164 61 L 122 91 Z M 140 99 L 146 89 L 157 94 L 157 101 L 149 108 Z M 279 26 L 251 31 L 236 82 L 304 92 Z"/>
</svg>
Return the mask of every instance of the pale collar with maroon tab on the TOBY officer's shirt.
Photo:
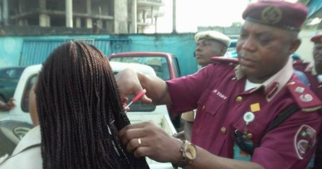
<svg viewBox="0 0 322 169">
<path fill-rule="evenodd" d="M 291 78 L 293 71 L 292 60 L 288 59 L 287 64 L 279 72 L 264 81 L 259 87 L 251 89 L 249 93 L 255 92 L 260 88 L 264 88 L 266 100 L 270 101 L 286 85 Z M 244 76 L 245 74 L 241 71 L 240 65 L 238 65 L 235 68 L 235 77 L 237 80 L 240 80 Z"/>
</svg>

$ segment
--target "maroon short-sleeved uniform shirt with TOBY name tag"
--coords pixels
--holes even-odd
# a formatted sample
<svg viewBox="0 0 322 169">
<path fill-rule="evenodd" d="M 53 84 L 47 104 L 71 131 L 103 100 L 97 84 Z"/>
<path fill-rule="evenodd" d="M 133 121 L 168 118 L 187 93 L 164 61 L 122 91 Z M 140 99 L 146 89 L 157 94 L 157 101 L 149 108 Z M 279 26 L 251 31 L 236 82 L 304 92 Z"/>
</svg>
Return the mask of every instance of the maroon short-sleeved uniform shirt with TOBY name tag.
<svg viewBox="0 0 322 169">
<path fill-rule="evenodd" d="M 235 130 L 247 130 L 254 144 L 258 144 L 268 125 L 290 105 L 297 103 L 300 108 L 315 108 L 321 104 L 293 75 L 290 60 L 261 87 L 244 91 L 245 81 L 239 67 L 235 69 L 233 64 L 220 63 L 209 65 L 194 75 L 167 81 L 173 113 L 197 108 L 192 131 L 194 144 L 214 155 L 233 158 L 232 133 Z M 297 88 L 294 87 L 303 90 L 295 93 Z M 248 126 L 243 120 L 246 112 L 255 114 L 255 120 Z M 304 168 L 314 151 L 320 126 L 321 116 L 316 111 L 296 112 L 262 138 L 251 161 L 267 169 Z M 302 131 L 309 132 L 309 136 L 301 138 L 299 132 Z M 303 141 L 308 142 L 304 150 Z"/>
</svg>

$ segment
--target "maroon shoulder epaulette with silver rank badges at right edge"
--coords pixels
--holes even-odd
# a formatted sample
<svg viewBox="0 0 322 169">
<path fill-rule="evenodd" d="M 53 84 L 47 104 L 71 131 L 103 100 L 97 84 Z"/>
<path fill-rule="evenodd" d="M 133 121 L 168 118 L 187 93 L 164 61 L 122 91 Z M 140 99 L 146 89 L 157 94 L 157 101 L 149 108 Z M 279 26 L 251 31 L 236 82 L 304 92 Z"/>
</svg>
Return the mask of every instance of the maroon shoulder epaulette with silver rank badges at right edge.
<svg viewBox="0 0 322 169">
<path fill-rule="evenodd" d="M 312 112 L 322 108 L 321 100 L 303 83 L 290 81 L 287 88 L 303 112 Z"/>
</svg>

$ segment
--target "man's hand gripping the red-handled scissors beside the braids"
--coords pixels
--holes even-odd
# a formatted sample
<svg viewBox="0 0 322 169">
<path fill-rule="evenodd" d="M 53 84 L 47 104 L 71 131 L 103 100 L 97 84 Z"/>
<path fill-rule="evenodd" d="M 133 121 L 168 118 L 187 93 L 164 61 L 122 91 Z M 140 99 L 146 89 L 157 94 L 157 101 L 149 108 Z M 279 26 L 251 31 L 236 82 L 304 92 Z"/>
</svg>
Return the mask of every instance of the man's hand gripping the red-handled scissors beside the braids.
<svg viewBox="0 0 322 169">
<path fill-rule="evenodd" d="M 138 73 L 133 69 L 125 69 L 121 72 L 119 72 L 116 77 L 116 82 L 119 87 L 119 93 L 121 96 L 121 99 L 124 102 L 126 102 L 128 99 L 126 97 L 127 94 L 139 94 L 143 88 L 141 86 Z M 151 103 L 152 100 L 148 98 L 146 95 L 143 95 L 140 100 L 145 103 Z"/>
</svg>

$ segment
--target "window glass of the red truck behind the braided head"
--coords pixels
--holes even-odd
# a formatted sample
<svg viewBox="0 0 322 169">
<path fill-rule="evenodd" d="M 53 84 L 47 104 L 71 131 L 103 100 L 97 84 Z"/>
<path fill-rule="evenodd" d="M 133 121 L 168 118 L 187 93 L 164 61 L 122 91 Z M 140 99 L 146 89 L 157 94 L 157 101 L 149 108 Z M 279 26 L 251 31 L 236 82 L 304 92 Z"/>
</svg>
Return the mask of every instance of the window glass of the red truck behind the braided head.
<svg viewBox="0 0 322 169">
<path fill-rule="evenodd" d="M 110 61 L 126 62 L 126 63 L 137 63 L 147 65 L 153 68 L 157 77 L 163 80 L 169 80 L 170 70 L 168 60 L 163 56 L 134 56 L 134 57 L 112 57 Z"/>
</svg>

